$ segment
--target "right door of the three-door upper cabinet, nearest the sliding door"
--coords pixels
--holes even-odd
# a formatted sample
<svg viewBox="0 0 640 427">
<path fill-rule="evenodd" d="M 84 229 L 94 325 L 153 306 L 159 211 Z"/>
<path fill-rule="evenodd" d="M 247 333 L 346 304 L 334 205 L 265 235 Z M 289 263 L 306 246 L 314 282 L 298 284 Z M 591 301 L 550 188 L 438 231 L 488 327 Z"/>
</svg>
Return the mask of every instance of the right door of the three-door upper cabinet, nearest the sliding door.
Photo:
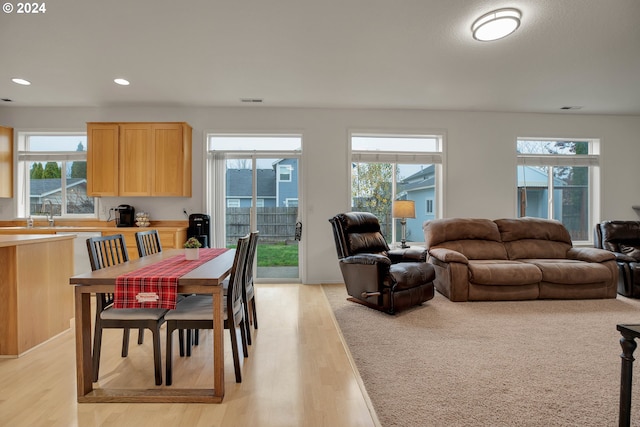
<svg viewBox="0 0 640 427">
<path fill-rule="evenodd" d="M 151 194 L 191 197 L 191 127 L 185 123 L 154 123 L 151 132 Z"/>
</svg>

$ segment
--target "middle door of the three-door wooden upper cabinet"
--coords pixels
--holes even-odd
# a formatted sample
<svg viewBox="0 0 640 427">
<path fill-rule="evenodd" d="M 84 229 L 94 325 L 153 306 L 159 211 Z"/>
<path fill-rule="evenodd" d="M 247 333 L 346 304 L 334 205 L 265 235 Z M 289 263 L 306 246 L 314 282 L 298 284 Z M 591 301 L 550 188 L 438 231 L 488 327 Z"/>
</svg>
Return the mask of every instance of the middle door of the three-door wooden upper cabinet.
<svg viewBox="0 0 640 427">
<path fill-rule="evenodd" d="M 120 124 L 120 196 L 151 195 L 151 124 Z"/>
</svg>

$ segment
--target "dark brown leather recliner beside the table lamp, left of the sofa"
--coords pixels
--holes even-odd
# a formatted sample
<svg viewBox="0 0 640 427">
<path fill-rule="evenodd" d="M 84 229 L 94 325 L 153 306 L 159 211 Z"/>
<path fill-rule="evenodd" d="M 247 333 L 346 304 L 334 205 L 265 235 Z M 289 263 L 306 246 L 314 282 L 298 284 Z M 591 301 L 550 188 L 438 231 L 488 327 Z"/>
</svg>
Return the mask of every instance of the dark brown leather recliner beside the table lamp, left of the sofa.
<svg viewBox="0 0 640 427">
<path fill-rule="evenodd" d="M 424 248 L 390 250 L 375 215 L 329 220 L 350 301 L 393 314 L 433 298 L 435 271 Z"/>
</svg>

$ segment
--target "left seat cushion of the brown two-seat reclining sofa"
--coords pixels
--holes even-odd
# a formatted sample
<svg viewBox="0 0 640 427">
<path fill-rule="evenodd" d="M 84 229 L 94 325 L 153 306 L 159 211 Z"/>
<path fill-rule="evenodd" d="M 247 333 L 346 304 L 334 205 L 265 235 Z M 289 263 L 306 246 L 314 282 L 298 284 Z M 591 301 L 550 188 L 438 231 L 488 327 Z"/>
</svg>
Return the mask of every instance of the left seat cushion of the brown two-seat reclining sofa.
<svg viewBox="0 0 640 427">
<path fill-rule="evenodd" d="M 469 261 L 469 282 L 480 285 L 530 285 L 542 280 L 540 269 L 518 261 Z"/>
</svg>

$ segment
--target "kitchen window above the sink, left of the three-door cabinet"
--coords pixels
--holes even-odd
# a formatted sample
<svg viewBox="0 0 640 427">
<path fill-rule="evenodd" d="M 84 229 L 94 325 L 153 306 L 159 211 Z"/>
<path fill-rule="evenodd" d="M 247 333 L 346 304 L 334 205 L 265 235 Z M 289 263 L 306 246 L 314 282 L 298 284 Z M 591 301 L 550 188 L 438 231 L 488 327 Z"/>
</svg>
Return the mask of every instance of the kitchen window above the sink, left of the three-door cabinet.
<svg viewBox="0 0 640 427">
<path fill-rule="evenodd" d="M 97 216 L 87 196 L 86 133 L 18 133 L 18 217 Z"/>
</svg>

